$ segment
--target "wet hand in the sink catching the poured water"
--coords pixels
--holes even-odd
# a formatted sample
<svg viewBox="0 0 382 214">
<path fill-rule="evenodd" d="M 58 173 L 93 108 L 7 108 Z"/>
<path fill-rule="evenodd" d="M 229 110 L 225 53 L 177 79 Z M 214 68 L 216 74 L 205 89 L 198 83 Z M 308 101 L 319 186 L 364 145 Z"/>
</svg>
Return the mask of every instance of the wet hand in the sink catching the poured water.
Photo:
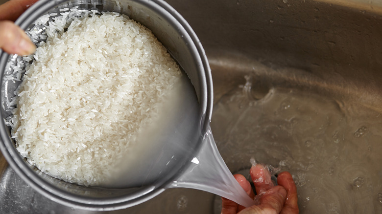
<svg viewBox="0 0 382 214">
<path fill-rule="evenodd" d="M 252 166 L 251 178 L 256 188 L 252 190 L 251 184 L 241 174 L 235 174 L 240 186 L 254 198 L 258 205 L 244 208 L 237 203 L 222 198 L 221 214 L 298 214 L 297 190 L 292 175 L 281 172 L 277 177 L 277 186 L 271 181 L 271 174 L 262 165 Z"/>
</svg>

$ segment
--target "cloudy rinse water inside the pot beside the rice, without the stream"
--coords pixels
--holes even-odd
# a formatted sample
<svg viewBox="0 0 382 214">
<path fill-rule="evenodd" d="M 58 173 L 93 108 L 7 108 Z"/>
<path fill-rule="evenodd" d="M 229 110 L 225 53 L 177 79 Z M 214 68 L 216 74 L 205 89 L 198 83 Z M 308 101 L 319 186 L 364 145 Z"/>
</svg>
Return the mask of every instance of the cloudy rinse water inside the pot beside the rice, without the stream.
<svg viewBox="0 0 382 214">
<path fill-rule="evenodd" d="M 156 111 L 150 115 L 151 123 L 141 127 L 132 146 L 123 157 L 115 161 L 103 187 L 140 187 L 153 185 L 172 168 L 190 162 L 196 134 L 199 130 L 199 106 L 193 86 L 187 75 L 179 78 L 167 89 Z"/>
</svg>

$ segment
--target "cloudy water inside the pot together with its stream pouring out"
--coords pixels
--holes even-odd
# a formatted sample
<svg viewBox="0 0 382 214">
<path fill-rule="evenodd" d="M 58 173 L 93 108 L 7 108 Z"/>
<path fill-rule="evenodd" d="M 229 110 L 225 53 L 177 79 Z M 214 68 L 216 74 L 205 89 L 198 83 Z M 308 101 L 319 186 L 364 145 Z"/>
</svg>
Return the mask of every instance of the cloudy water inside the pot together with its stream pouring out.
<svg viewBox="0 0 382 214">
<path fill-rule="evenodd" d="M 192 188 L 229 198 L 249 207 L 254 200 L 240 187 L 216 148 L 211 128 L 202 135 L 198 101 L 190 80 L 185 76 L 168 91 L 164 102 L 145 127 L 126 156 L 113 170 L 105 187 L 134 187 L 156 182 L 175 165 L 189 165 L 178 172 L 170 188 Z M 194 139 L 194 140 L 192 140 Z M 196 141 L 195 141 L 196 140 Z M 197 141 L 201 147 L 197 147 Z M 190 160 L 179 160 L 179 156 Z M 178 157 L 178 158 L 176 158 Z M 171 173 L 171 172 L 170 172 Z"/>
</svg>

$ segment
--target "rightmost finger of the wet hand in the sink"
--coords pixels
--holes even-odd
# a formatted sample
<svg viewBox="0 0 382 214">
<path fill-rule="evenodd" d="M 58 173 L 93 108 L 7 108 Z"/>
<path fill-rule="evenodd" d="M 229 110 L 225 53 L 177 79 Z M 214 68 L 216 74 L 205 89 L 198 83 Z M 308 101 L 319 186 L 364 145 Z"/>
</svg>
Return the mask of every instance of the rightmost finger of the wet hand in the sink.
<svg viewBox="0 0 382 214">
<path fill-rule="evenodd" d="M 287 199 L 281 214 L 298 214 L 297 189 L 292 175 L 287 172 L 281 172 L 277 177 L 277 183 L 287 190 Z"/>
</svg>

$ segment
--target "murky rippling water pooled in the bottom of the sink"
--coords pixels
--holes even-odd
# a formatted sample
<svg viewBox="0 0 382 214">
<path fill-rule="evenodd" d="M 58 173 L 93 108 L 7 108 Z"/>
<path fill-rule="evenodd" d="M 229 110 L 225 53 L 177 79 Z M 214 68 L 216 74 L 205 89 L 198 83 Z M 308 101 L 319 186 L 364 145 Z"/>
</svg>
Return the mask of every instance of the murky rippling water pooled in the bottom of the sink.
<svg viewBox="0 0 382 214">
<path fill-rule="evenodd" d="M 231 171 L 291 172 L 301 213 L 382 213 L 382 120 L 357 104 L 290 89 L 252 96 L 251 78 L 216 101 L 211 127 Z"/>
</svg>

